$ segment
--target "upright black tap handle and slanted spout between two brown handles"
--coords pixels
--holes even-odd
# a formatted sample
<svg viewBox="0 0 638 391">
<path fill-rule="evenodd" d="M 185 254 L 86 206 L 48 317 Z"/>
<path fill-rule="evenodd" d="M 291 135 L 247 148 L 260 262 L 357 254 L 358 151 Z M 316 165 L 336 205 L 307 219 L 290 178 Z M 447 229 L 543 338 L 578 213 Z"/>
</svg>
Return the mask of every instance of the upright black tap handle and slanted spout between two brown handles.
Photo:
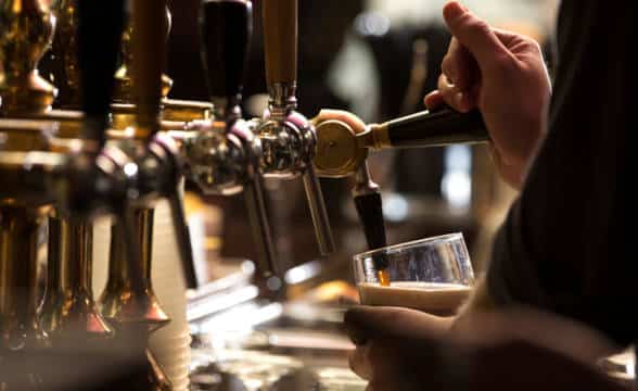
<svg viewBox="0 0 638 391">
<path fill-rule="evenodd" d="M 251 1 L 205 0 L 200 13 L 202 60 L 217 119 L 227 122 L 227 135 L 242 141 L 247 156 L 244 198 L 259 252 L 259 269 L 277 273 L 275 244 L 264 201 L 264 179 L 253 148 L 253 134 L 241 118 L 242 81 L 253 33 Z"/>
</svg>

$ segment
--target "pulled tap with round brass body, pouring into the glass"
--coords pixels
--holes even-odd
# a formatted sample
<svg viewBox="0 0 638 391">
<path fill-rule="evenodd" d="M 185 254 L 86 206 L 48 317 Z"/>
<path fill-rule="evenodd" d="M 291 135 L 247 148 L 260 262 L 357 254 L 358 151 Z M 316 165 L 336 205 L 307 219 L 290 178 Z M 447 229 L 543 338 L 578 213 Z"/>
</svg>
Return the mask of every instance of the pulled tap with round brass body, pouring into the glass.
<svg viewBox="0 0 638 391">
<path fill-rule="evenodd" d="M 471 143 L 488 139 L 477 111 L 461 114 L 449 108 L 408 115 L 381 125 L 368 125 L 360 134 L 341 121 L 331 119 L 316 125 L 318 147 L 315 166 L 319 175 L 326 177 L 355 174 L 353 199 L 370 250 L 387 244 L 381 192 L 368 168 L 370 150 Z M 377 256 L 372 261 L 379 270 L 379 281 L 388 285 L 385 258 Z"/>
</svg>

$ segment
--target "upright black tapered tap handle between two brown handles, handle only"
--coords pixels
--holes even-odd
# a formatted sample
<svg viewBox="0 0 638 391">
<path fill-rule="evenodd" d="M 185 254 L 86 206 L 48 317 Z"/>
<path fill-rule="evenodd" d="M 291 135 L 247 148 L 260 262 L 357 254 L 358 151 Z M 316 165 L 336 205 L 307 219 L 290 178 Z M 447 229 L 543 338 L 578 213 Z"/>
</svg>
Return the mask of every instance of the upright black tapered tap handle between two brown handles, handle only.
<svg viewBox="0 0 638 391">
<path fill-rule="evenodd" d="M 213 102 L 241 101 L 248 46 L 253 33 L 253 5 L 242 0 L 204 0 L 200 12 L 202 61 Z M 227 109 L 227 108 L 219 108 Z"/>
</svg>

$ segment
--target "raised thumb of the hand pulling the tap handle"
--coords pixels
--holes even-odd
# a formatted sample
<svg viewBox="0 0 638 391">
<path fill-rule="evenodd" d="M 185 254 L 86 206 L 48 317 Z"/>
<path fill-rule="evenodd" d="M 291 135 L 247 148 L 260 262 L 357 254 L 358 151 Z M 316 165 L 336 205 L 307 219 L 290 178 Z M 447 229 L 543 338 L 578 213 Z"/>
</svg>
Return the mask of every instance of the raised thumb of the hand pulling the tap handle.
<svg viewBox="0 0 638 391">
<path fill-rule="evenodd" d="M 507 52 L 489 25 L 458 2 L 445 5 L 443 17 L 450 33 L 474 55 L 482 71 L 499 54 Z"/>
</svg>

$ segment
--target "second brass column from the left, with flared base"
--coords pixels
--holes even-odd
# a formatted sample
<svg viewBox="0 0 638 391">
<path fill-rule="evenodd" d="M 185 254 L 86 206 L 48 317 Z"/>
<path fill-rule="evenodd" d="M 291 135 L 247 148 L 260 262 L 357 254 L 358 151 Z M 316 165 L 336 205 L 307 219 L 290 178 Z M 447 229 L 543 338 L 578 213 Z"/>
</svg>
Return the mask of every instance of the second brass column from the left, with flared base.
<svg viewBox="0 0 638 391">
<path fill-rule="evenodd" d="M 63 72 L 63 77 L 56 79 L 63 84 L 56 105 L 73 111 L 52 111 L 44 118 L 67 118 L 62 123 L 61 131 L 51 139 L 51 148 L 73 155 L 77 152 L 74 144 L 81 143 L 78 138 L 82 129 L 81 114 L 77 112 L 82 108 L 82 101 L 76 34 L 81 21 L 78 20 L 78 0 L 59 0 L 51 7 L 56 15 L 52 52 Z M 91 72 L 90 68 L 85 71 Z M 93 93 L 101 93 L 99 89 L 97 91 Z M 89 93 L 87 99 L 94 98 Z M 69 215 L 63 209 L 54 209 L 49 215 L 47 291 L 40 323 L 54 346 L 68 348 L 74 341 L 81 341 L 97 348 L 95 343 L 110 340 L 114 332 L 93 300 L 93 225 L 90 218 Z"/>
</svg>

